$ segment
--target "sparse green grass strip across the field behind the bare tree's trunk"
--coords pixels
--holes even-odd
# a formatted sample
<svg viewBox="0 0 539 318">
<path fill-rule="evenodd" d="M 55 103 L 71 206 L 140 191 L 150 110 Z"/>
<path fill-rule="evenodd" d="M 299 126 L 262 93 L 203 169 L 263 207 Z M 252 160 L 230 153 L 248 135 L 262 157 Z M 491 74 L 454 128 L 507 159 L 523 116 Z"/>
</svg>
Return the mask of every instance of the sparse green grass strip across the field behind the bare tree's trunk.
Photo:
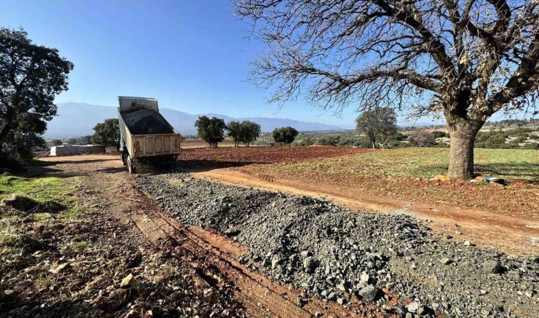
<svg viewBox="0 0 539 318">
<path fill-rule="evenodd" d="M 475 149 L 476 172 L 509 180 L 539 181 L 539 151 L 519 149 Z M 413 148 L 383 150 L 295 164 L 268 167 L 276 174 L 314 172 L 349 173 L 366 178 L 432 178 L 446 174 L 449 149 Z"/>
</svg>

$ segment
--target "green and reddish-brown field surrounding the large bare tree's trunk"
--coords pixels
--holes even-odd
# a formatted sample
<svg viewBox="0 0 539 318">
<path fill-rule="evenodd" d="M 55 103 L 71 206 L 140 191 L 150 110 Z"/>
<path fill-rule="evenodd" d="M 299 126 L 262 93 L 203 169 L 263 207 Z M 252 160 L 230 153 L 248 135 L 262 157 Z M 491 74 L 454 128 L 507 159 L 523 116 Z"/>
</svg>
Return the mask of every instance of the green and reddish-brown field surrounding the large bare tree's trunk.
<svg viewBox="0 0 539 318">
<path fill-rule="evenodd" d="M 362 193 L 405 202 L 443 203 L 539 218 L 539 152 L 475 150 L 476 171 L 509 180 L 508 187 L 468 181 L 429 181 L 433 175 L 446 173 L 448 156 L 448 149 L 403 148 L 243 169 L 345 194 Z M 416 178 L 421 180 L 416 181 Z"/>
</svg>

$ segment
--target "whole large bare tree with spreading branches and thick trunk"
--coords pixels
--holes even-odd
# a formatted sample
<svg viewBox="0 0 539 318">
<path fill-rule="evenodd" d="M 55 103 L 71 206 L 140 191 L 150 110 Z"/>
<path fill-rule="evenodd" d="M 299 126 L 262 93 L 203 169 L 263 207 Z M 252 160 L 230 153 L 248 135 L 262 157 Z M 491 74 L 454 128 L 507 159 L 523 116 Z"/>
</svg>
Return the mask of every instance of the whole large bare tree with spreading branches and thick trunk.
<svg viewBox="0 0 539 318">
<path fill-rule="evenodd" d="M 537 107 L 536 0 L 233 0 L 267 45 L 252 80 L 340 112 L 443 114 L 448 175 L 473 176 L 474 137 L 497 111 Z M 534 112 L 537 114 L 537 112 Z"/>
</svg>

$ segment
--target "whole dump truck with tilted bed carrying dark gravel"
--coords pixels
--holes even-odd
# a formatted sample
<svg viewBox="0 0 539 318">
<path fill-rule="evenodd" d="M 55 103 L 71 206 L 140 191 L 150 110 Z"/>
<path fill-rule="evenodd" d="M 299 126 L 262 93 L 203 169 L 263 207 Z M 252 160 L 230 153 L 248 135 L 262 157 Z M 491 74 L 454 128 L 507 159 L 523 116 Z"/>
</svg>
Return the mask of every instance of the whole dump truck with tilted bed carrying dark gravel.
<svg viewBox="0 0 539 318">
<path fill-rule="evenodd" d="M 118 96 L 120 157 L 130 173 L 137 164 L 173 164 L 182 152 L 181 135 L 160 113 L 156 98 Z"/>
</svg>

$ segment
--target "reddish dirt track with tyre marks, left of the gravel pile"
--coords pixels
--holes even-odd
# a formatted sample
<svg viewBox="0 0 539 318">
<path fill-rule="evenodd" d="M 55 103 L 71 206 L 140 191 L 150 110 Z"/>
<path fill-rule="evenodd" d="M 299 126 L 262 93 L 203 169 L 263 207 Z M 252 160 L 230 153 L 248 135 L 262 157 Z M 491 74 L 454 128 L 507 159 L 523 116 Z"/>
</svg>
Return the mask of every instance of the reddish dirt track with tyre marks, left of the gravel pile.
<svg viewBox="0 0 539 318">
<path fill-rule="evenodd" d="M 196 268 L 193 279 L 208 286 L 227 281 L 235 286 L 234 299 L 248 315 L 309 317 L 389 317 L 381 308 L 356 301 L 352 306 L 322 302 L 289 285 L 275 284 L 239 262 L 245 248 L 230 238 L 200 228 L 186 228 L 162 213 L 157 202 L 137 190 L 135 179 L 118 157 L 75 156 L 42 158 L 44 171 L 65 178 L 81 178 L 92 193 L 91 200 L 103 202 L 109 213 L 122 223 L 132 224 L 157 248 L 172 252 Z M 85 194 L 80 195 L 84 199 Z M 310 299 L 298 303 L 298 297 Z"/>
</svg>

